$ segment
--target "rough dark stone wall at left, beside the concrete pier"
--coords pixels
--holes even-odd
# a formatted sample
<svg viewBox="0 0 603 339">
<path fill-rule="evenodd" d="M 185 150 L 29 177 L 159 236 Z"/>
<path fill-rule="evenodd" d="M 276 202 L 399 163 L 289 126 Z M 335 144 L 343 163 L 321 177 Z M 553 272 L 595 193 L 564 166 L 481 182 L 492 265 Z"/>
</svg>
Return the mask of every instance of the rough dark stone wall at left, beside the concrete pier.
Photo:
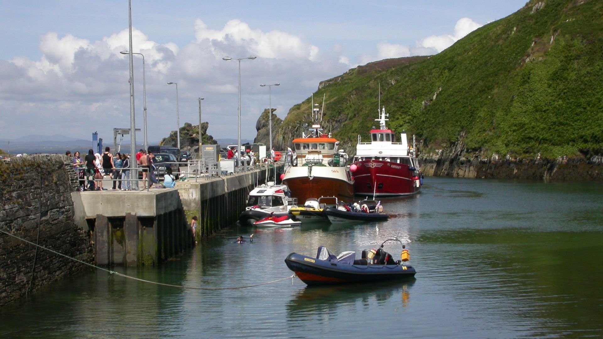
<svg viewBox="0 0 603 339">
<path fill-rule="evenodd" d="M 66 156 L 0 162 L 0 230 L 93 262 L 90 236 L 74 223 L 71 192 L 77 186 Z M 36 246 L 0 232 L 0 306 L 87 267 L 48 250 L 36 256 Z"/>
</svg>

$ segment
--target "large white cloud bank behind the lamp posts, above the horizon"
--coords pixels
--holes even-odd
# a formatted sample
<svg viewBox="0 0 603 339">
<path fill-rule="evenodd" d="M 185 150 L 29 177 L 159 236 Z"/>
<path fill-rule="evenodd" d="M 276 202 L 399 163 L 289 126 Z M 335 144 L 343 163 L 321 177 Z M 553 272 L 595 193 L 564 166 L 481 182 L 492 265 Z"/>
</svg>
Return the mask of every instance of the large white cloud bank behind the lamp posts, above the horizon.
<svg viewBox="0 0 603 339">
<path fill-rule="evenodd" d="M 133 51 L 145 55 L 149 138 L 159 141 L 175 130 L 175 87 L 178 83 L 180 122 L 198 121 L 197 98 L 203 103 L 203 121 L 216 138 L 236 137 L 238 72 L 236 63 L 222 57 L 257 55 L 245 60 L 241 72 L 242 138 L 255 135 L 259 114 L 268 107 L 268 93 L 260 83 L 279 82 L 272 90 L 273 107 L 281 118 L 305 100 L 321 80 L 349 69 L 349 59 L 322 54 L 317 46 L 282 31 L 252 30 L 244 22 L 227 22 L 212 30 L 195 22 L 191 43 L 160 44 L 133 29 Z M 128 31 L 96 41 L 66 34 L 45 34 L 39 60 L 14 57 L 0 60 L 0 126 L 4 138 L 14 133 L 63 134 L 89 138 L 98 130 L 111 139 L 114 127 L 128 127 Z M 134 55 L 136 127 L 142 125 L 142 60 Z M 284 107 L 284 108 L 283 108 Z M 27 124 L 24 123 L 27 121 Z M 19 127 L 19 128 L 11 128 Z M 16 131 L 18 130 L 18 131 Z M 139 135 L 137 138 L 142 138 Z"/>
</svg>

